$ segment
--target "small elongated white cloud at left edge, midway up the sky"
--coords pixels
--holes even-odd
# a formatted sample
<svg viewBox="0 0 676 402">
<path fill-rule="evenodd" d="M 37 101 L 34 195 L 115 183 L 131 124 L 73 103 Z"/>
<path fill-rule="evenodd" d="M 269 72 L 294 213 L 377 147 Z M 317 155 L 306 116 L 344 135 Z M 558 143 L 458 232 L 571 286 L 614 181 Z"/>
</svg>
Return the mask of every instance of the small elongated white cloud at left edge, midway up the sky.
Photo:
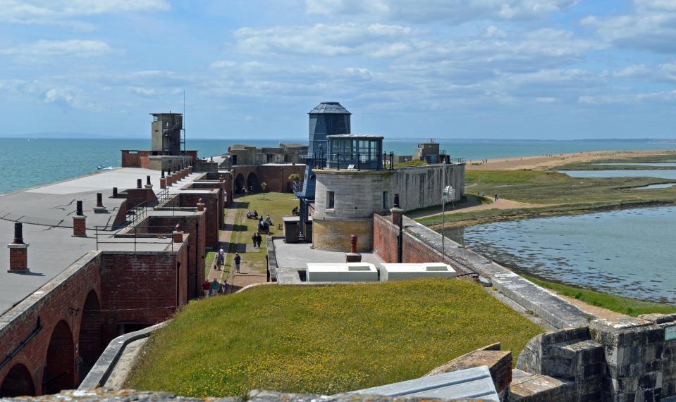
<svg viewBox="0 0 676 402">
<path fill-rule="evenodd" d="M 106 42 L 98 40 L 70 39 L 64 41 L 40 40 L 30 44 L 0 49 L 0 54 L 16 56 L 32 62 L 51 62 L 54 57 L 96 57 L 104 56 L 112 51 Z"/>
</svg>

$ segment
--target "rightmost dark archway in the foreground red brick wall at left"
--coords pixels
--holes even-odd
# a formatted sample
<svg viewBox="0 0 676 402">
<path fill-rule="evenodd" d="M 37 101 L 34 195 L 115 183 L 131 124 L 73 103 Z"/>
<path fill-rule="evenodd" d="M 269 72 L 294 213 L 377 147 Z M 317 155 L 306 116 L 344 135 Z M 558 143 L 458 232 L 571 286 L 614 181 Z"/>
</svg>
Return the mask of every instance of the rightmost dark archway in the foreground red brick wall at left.
<svg viewBox="0 0 676 402">
<path fill-rule="evenodd" d="M 94 363 L 97 362 L 102 352 L 102 327 L 103 318 L 99 308 L 99 297 L 95 291 L 90 291 L 82 307 L 82 321 L 80 322 L 80 337 L 78 348 L 82 364 L 78 368 L 78 384 L 85 379 Z"/>
</svg>

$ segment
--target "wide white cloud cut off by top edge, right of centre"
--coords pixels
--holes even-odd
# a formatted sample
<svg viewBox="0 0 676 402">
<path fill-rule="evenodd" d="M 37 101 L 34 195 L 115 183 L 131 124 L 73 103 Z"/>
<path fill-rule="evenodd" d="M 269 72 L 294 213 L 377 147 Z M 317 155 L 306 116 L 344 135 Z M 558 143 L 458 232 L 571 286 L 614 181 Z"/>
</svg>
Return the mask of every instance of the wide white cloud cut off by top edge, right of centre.
<svg viewBox="0 0 676 402">
<path fill-rule="evenodd" d="M 577 0 L 307 0 L 306 11 L 320 15 L 364 15 L 380 20 L 426 23 L 444 20 L 525 20 L 567 11 Z"/>
</svg>

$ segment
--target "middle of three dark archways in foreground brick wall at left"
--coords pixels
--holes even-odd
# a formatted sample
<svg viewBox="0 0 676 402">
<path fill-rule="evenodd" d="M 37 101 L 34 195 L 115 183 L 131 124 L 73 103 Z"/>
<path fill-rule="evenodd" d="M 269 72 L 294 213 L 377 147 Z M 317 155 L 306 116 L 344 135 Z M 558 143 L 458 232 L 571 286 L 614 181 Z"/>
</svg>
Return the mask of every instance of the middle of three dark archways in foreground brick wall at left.
<svg viewBox="0 0 676 402">
<path fill-rule="evenodd" d="M 66 321 L 59 321 L 51 332 L 47 364 L 42 375 L 42 394 L 56 394 L 75 388 L 75 352 L 73 335 Z"/>
</svg>

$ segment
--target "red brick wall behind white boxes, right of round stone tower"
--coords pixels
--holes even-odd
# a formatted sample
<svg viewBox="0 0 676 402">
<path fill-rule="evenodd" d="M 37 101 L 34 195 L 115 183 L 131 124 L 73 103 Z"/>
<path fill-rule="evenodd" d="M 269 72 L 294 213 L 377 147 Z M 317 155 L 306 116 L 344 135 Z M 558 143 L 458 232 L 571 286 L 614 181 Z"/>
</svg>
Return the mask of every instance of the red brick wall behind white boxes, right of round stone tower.
<svg viewBox="0 0 676 402">
<path fill-rule="evenodd" d="M 397 235 L 399 227 L 389 217 L 374 214 L 373 251 L 386 263 L 397 262 Z M 402 244 L 403 263 L 432 263 L 441 259 L 441 253 L 404 231 Z"/>
</svg>

